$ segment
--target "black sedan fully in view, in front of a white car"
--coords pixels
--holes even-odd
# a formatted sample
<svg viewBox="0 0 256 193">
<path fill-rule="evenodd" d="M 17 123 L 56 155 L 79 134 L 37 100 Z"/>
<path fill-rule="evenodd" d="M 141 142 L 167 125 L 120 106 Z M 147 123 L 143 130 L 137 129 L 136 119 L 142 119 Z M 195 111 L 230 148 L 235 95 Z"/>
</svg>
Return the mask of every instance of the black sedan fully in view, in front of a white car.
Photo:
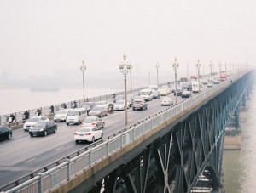
<svg viewBox="0 0 256 193">
<path fill-rule="evenodd" d="M 48 135 L 49 133 L 56 133 L 57 124 L 52 121 L 47 122 L 37 122 L 29 129 L 29 134 L 31 137 L 38 135 Z"/>
</svg>

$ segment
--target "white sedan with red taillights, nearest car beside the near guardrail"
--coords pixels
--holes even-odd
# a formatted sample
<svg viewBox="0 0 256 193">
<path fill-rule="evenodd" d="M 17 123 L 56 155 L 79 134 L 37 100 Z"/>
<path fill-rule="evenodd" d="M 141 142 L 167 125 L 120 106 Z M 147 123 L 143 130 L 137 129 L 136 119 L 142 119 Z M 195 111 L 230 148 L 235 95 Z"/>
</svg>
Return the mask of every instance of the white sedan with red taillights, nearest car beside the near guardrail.
<svg viewBox="0 0 256 193">
<path fill-rule="evenodd" d="M 102 139 L 103 138 L 103 132 L 102 129 L 97 127 L 82 127 L 79 128 L 74 134 L 73 134 L 74 141 L 76 144 L 79 143 L 79 141 L 90 141 L 92 143 L 95 142 L 96 139 Z"/>
</svg>

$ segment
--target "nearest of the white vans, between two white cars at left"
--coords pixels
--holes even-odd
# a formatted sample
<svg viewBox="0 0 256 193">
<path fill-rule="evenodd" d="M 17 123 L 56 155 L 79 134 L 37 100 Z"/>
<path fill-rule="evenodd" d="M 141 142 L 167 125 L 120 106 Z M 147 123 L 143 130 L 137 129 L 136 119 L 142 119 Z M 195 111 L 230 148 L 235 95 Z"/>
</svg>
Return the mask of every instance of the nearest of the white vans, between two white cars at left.
<svg viewBox="0 0 256 193">
<path fill-rule="evenodd" d="M 80 124 L 84 121 L 87 116 L 87 111 L 85 108 L 71 109 L 67 113 L 66 123 L 69 124 Z"/>
</svg>

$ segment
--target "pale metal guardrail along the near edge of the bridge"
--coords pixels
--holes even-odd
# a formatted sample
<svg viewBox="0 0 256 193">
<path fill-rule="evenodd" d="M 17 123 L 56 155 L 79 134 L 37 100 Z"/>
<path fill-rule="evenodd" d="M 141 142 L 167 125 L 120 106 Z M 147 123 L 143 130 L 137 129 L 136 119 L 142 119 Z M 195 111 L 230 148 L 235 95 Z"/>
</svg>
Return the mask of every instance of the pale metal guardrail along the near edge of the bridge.
<svg viewBox="0 0 256 193">
<path fill-rule="evenodd" d="M 120 150 L 125 145 L 131 143 L 148 130 L 157 127 L 160 123 L 166 122 L 170 118 L 177 116 L 182 111 L 188 110 L 191 107 L 198 105 L 202 99 L 207 99 L 213 94 L 217 94 L 219 91 L 227 88 L 230 82 L 236 82 L 239 76 L 230 77 L 225 82 L 221 82 L 216 87 L 207 89 L 206 91 L 198 94 L 190 99 L 183 101 L 182 103 L 170 107 L 164 111 L 156 113 L 154 116 L 137 122 L 126 128 L 119 133 L 115 133 L 111 139 L 102 139 L 96 143 L 99 145 L 91 145 L 90 148 L 86 148 L 83 153 L 79 153 L 77 156 L 70 158 L 67 156 L 67 160 L 61 162 L 57 166 L 45 171 L 44 173 L 38 173 L 32 179 L 27 180 L 22 184 L 18 184 L 16 187 L 6 190 L 6 193 L 11 192 L 33 192 L 41 193 L 49 191 L 61 182 L 73 179 L 75 174 L 92 167 L 96 162 L 112 155 L 117 150 Z"/>
</svg>

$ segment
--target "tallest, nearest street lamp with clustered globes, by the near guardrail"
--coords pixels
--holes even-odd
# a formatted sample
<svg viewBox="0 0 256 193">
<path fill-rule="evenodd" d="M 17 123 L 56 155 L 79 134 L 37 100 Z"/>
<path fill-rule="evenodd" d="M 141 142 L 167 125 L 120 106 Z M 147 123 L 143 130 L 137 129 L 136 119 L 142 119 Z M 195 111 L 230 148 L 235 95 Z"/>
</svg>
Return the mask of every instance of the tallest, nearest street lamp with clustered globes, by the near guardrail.
<svg viewBox="0 0 256 193">
<path fill-rule="evenodd" d="M 127 88 L 126 88 L 126 78 L 127 78 L 127 74 L 129 73 L 129 71 L 131 71 L 131 65 L 125 63 L 126 61 L 126 54 L 124 53 L 123 55 L 123 59 L 124 62 L 120 62 L 119 64 L 119 69 L 121 71 L 121 73 L 124 74 L 124 79 L 125 79 L 125 127 L 128 124 L 128 117 L 127 117 Z"/>
</svg>

